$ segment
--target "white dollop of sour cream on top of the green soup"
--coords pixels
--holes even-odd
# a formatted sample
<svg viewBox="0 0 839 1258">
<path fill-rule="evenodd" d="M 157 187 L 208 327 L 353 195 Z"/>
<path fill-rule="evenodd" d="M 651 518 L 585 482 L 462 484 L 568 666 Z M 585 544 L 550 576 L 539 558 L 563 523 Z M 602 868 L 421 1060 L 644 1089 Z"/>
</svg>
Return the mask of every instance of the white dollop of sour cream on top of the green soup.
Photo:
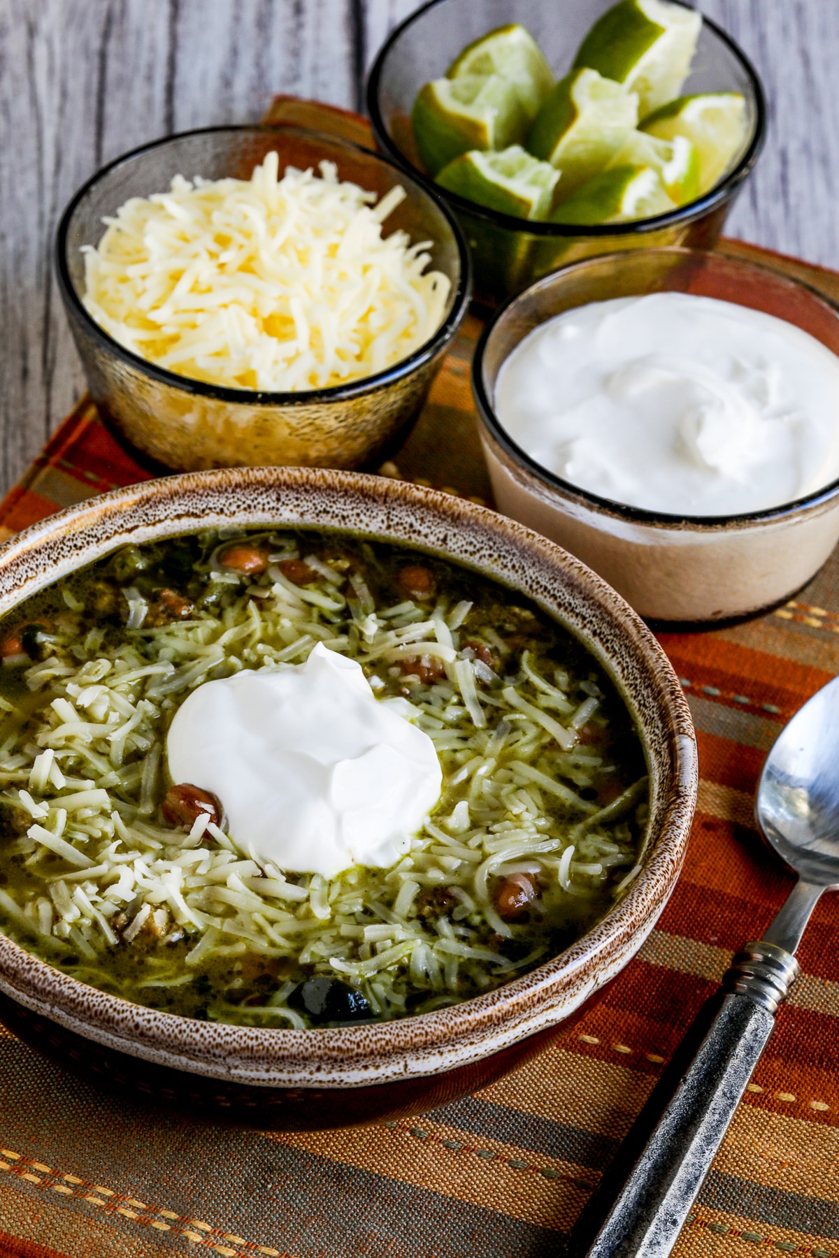
<svg viewBox="0 0 839 1258">
<path fill-rule="evenodd" d="M 318 643 L 303 664 L 205 682 L 175 713 L 169 770 L 219 798 L 230 837 L 281 869 L 386 868 L 436 803 L 434 743 L 404 699 Z"/>
</svg>

